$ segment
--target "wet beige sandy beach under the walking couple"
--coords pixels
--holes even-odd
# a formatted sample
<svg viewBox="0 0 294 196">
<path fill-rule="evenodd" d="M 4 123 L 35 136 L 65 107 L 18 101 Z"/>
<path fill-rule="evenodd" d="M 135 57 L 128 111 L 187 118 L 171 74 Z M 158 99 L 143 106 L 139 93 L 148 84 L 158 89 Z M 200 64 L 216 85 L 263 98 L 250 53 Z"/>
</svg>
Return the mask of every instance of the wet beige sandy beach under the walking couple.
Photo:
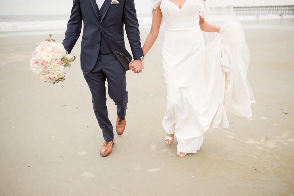
<svg viewBox="0 0 294 196">
<path fill-rule="evenodd" d="M 141 29 L 142 44 L 148 32 Z M 228 113 L 230 127 L 207 132 L 184 158 L 176 139 L 165 144 L 161 126 L 164 29 L 143 73 L 127 72 L 127 126 L 108 157 L 100 156 L 102 131 L 80 69 L 81 39 L 66 81 L 52 85 L 29 67 L 47 34 L 0 37 L 0 195 L 294 195 L 294 28 L 245 34 L 252 117 Z M 114 124 L 108 96 L 107 107 Z"/>
</svg>

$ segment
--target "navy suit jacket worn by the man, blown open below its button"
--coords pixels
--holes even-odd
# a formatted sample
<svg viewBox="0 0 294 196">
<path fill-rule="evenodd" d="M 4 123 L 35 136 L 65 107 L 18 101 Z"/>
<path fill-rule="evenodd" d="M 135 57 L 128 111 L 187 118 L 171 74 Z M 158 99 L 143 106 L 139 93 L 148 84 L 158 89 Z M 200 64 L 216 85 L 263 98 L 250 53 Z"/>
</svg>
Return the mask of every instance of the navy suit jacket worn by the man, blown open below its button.
<svg viewBox="0 0 294 196">
<path fill-rule="evenodd" d="M 101 35 L 105 37 L 115 54 L 118 53 L 129 61 L 132 60 L 132 56 L 125 49 L 124 25 L 133 58 L 143 56 L 134 0 L 118 0 L 119 4 L 111 4 L 111 1 L 105 0 L 103 14 L 99 16 L 96 0 L 74 0 L 62 44 L 70 54 L 81 34 L 83 21 L 81 42 L 83 71 L 90 72 L 95 66 L 101 46 Z"/>
</svg>

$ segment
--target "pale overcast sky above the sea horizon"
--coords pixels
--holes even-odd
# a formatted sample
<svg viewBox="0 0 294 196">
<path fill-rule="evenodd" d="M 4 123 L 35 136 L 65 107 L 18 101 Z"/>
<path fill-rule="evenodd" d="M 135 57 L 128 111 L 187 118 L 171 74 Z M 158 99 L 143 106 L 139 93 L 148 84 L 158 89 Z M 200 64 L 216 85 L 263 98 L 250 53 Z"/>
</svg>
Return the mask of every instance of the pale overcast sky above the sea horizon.
<svg viewBox="0 0 294 196">
<path fill-rule="evenodd" d="M 206 0 L 209 6 L 293 5 L 294 0 Z M 73 0 L 0 0 L 0 15 L 70 14 Z M 138 14 L 150 13 L 150 0 L 135 0 Z"/>
</svg>

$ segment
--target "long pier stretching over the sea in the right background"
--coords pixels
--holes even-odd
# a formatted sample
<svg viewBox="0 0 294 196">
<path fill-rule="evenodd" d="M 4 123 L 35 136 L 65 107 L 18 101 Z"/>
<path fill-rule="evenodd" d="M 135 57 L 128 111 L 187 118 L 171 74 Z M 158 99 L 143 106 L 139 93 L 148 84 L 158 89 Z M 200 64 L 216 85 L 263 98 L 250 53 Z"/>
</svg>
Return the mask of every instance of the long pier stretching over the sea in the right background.
<svg viewBox="0 0 294 196">
<path fill-rule="evenodd" d="M 214 7 L 211 11 L 216 15 L 221 15 L 225 10 L 228 12 L 229 7 Z M 233 7 L 236 15 L 266 15 L 266 14 L 282 14 L 294 15 L 294 5 L 289 6 L 256 6 L 256 7 Z"/>
</svg>

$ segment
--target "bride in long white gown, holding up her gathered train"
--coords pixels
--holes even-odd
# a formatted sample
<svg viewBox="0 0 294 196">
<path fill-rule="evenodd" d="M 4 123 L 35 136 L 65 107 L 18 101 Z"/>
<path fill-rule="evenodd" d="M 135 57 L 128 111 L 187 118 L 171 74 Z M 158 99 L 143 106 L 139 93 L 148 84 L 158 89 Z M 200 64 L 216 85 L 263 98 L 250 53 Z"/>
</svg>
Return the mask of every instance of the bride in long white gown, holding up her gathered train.
<svg viewBox="0 0 294 196">
<path fill-rule="evenodd" d="M 167 109 L 162 125 L 166 144 L 171 144 L 176 136 L 177 155 L 185 157 L 200 149 L 206 131 L 229 126 L 226 108 L 232 108 L 234 114 L 251 117 L 250 104 L 255 101 L 247 82 L 246 66 L 238 61 L 242 58 L 238 47 L 245 47 L 245 34 L 240 36 L 243 29 L 237 22 L 225 23 L 221 30 L 220 26 L 204 21 L 211 11 L 203 0 L 152 0 L 151 3 L 153 20 L 143 54 L 151 49 L 160 26 L 165 23 L 162 65 Z M 201 30 L 222 34 L 206 49 Z M 231 36 L 240 41 L 232 43 Z M 141 72 L 136 64 L 131 63 L 130 69 Z"/>
</svg>

